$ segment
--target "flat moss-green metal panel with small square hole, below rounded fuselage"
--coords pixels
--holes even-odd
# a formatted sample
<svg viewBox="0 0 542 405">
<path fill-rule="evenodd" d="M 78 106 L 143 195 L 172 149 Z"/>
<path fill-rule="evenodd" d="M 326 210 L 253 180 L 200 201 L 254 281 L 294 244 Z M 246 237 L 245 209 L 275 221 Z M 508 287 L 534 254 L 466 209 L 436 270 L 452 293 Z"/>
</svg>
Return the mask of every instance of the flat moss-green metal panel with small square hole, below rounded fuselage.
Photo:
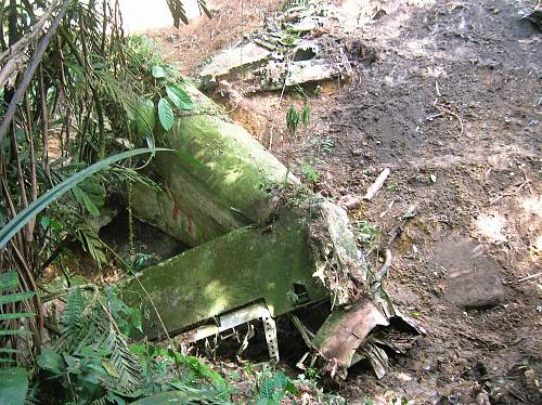
<svg viewBox="0 0 542 405">
<path fill-rule="evenodd" d="M 144 270 L 139 283 L 124 284 L 122 297 L 150 314 L 151 339 L 163 335 L 156 310 L 169 332 L 259 300 L 278 316 L 330 295 L 313 277 L 308 239 L 307 220 L 293 214 L 272 228 L 240 228 Z"/>
</svg>

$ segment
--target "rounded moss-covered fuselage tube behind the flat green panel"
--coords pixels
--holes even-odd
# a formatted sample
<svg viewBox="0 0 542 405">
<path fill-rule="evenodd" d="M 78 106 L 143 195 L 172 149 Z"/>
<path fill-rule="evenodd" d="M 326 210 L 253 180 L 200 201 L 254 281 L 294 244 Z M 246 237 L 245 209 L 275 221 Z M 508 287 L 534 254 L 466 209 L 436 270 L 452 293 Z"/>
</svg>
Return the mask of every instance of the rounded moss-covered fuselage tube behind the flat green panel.
<svg viewBox="0 0 542 405">
<path fill-rule="evenodd" d="M 158 145 L 179 153 L 156 155 L 154 170 L 165 193 L 134 187 L 136 214 L 190 246 L 266 223 L 285 185 L 286 168 L 190 82 L 180 86 L 196 110 L 178 116 L 173 128 L 158 136 Z M 292 174 L 288 181 L 297 182 Z"/>
</svg>

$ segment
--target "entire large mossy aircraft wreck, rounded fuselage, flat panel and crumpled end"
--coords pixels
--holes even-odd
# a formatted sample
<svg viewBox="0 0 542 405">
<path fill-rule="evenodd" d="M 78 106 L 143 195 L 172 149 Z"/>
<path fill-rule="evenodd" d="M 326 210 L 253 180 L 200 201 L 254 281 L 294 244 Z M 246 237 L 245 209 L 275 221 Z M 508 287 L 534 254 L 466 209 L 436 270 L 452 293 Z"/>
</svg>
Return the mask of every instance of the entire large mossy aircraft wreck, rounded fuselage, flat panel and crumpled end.
<svg viewBox="0 0 542 405">
<path fill-rule="evenodd" d="M 323 358 L 332 375 L 345 376 L 366 357 L 382 376 L 383 347 L 393 345 L 370 339 L 372 331 L 392 318 L 423 329 L 382 293 L 346 211 L 305 190 L 193 84 L 180 86 L 196 108 L 157 139 L 178 152 L 155 156 L 152 177 L 162 187 L 134 185 L 132 209 L 192 248 L 124 282 L 124 299 L 150 314 L 144 335 L 185 345 L 261 318 L 278 361 L 274 318 L 331 300 L 315 334 L 293 317 L 312 353 L 304 360 Z"/>
</svg>

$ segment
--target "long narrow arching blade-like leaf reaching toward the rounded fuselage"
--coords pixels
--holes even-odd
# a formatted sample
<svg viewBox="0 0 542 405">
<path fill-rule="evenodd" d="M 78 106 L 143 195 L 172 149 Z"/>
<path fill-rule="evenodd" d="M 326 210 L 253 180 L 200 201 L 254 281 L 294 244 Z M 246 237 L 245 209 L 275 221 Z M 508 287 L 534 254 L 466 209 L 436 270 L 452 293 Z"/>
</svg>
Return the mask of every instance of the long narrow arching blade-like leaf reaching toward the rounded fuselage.
<svg viewBox="0 0 542 405">
<path fill-rule="evenodd" d="M 92 166 L 79 171 L 78 173 L 72 175 L 70 178 L 64 180 L 62 183 L 55 185 L 47 193 L 41 195 L 37 200 L 31 203 L 28 207 L 26 207 L 23 211 L 21 211 L 13 220 L 8 222 L 8 224 L 0 230 L 0 249 L 8 245 L 8 241 L 18 232 L 23 226 L 25 226 L 29 221 L 31 221 L 38 213 L 44 210 L 51 203 L 62 196 L 64 193 L 73 188 L 75 185 L 79 184 L 81 181 L 87 179 L 89 175 L 94 174 L 95 172 L 108 168 L 111 165 L 132 157 L 137 155 L 154 153 L 154 152 L 171 152 L 171 149 L 167 148 L 142 148 L 142 149 L 133 149 L 128 152 L 122 152 L 121 154 L 117 154 L 114 156 L 109 156 L 106 159 L 103 159 L 99 162 L 95 162 Z"/>
</svg>

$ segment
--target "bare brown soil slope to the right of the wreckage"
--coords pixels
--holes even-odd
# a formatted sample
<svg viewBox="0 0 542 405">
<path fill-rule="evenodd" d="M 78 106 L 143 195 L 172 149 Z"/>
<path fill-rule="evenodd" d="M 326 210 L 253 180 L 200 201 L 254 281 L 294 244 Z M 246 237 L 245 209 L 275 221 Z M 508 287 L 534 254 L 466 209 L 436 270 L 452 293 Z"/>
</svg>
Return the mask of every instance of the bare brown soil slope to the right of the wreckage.
<svg viewBox="0 0 542 405">
<path fill-rule="evenodd" d="M 190 37 L 179 41 L 192 48 L 171 56 L 184 71 L 238 34 L 236 3 L 183 28 Z M 245 3 L 270 12 L 279 1 Z M 541 271 L 542 38 L 518 16 L 534 1 L 373 3 L 385 12 L 343 35 L 353 77 L 310 96 L 312 125 L 292 140 L 292 153 L 284 117 L 294 95 L 280 103 L 233 88 L 238 96 L 217 100 L 266 146 L 272 133 L 283 160 L 293 155 L 298 168 L 318 170 L 315 188 L 332 198 L 362 196 L 390 168 L 380 193 L 351 212 L 384 235 L 417 205 L 392 246 L 387 288 L 428 334 L 392 357 L 382 380 L 351 370 L 340 387 L 349 403 L 481 404 L 485 393 L 492 404 L 541 403 L 541 278 L 520 280 Z M 256 28 L 261 19 L 250 15 Z M 483 261 L 470 269 L 477 254 Z M 467 287 L 457 289 L 456 277 Z M 493 301 L 467 310 L 466 291 Z"/>
</svg>

